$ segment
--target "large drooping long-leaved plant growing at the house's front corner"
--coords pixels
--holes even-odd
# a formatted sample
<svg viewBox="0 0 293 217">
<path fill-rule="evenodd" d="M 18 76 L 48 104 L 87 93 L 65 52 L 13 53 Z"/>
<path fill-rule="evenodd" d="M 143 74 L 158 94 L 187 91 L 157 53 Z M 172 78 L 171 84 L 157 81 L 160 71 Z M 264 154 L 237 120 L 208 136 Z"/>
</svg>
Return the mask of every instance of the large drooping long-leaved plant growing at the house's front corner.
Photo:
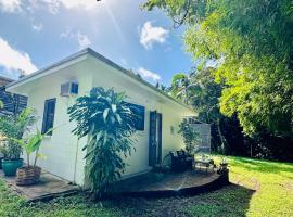
<svg viewBox="0 0 293 217">
<path fill-rule="evenodd" d="M 80 97 L 68 108 L 73 130 L 78 138 L 88 137 L 86 150 L 86 177 L 92 192 L 102 196 L 110 183 L 125 170 L 123 156 L 131 154 L 135 140 L 135 122 L 131 105 L 125 93 L 114 89 L 93 88 L 89 95 Z"/>
</svg>

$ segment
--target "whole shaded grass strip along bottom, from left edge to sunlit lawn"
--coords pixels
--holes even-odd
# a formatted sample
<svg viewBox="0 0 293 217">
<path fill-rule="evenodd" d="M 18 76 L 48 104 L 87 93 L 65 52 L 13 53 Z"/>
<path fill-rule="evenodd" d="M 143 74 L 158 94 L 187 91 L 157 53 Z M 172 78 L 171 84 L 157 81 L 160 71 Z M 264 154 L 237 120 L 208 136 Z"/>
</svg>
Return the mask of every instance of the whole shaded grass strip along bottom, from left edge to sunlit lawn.
<svg viewBox="0 0 293 217">
<path fill-rule="evenodd" d="M 7 189 L 4 188 L 3 191 L 5 192 Z M 92 201 L 88 194 L 80 193 L 29 206 L 22 201 L 17 202 L 17 196 L 12 197 L 10 193 L 3 193 L 7 196 L 0 194 L 0 202 L 4 202 L 2 212 L 0 205 L 0 216 L 234 217 L 247 214 L 253 193 L 251 189 L 229 184 L 220 190 L 195 196 L 115 197 L 99 203 Z"/>
</svg>

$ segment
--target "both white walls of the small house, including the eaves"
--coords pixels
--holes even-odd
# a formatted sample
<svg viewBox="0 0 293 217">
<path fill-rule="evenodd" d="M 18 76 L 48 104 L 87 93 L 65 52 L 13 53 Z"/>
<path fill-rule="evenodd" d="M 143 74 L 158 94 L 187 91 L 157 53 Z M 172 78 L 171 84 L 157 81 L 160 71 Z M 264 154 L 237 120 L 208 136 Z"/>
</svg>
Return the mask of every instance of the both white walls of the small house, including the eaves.
<svg viewBox="0 0 293 217">
<path fill-rule="evenodd" d="M 85 153 L 81 151 L 86 139 L 77 140 L 71 132 L 74 123 L 69 123 L 67 107 L 74 99 L 60 97 L 60 86 L 63 82 L 76 80 L 79 84 L 79 94 L 89 94 L 92 87 L 114 88 L 115 91 L 125 91 L 129 102 L 145 107 L 144 131 L 138 131 L 135 137 L 138 141 L 136 152 L 125 161 L 128 164 L 126 176 L 143 173 L 149 167 L 149 128 L 150 111 L 157 111 L 163 115 L 163 157 L 169 152 L 183 148 L 182 138 L 177 133 L 178 125 L 184 116 L 192 115 L 192 111 L 179 103 L 162 95 L 123 72 L 110 66 L 92 55 L 87 55 L 80 62 L 60 67 L 53 74 L 40 77 L 34 81 L 15 88 L 14 91 L 28 95 L 28 106 L 37 110 L 38 128 L 42 126 L 44 100 L 56 98 L 54 127 L 51 137 L 42 143 L 41 153 L 47 155 L 39 166 L 68 181 L 84 184 Z M 13 89 L 11 89 L 13 91 Z M 175 133 L 170 128 L 175 127 Z"/>
</svg>

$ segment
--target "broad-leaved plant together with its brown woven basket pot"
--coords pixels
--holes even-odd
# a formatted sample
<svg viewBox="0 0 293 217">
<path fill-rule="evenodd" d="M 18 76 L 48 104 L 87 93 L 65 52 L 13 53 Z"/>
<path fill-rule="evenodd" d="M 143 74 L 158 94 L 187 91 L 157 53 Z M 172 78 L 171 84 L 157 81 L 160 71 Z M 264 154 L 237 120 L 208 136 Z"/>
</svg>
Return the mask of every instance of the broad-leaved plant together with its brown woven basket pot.
<svg viewBox="0 0 293 217">
<path fill-rule="evenodd" d="M 17 186 L 30 186 L 39 182 L 41 168 L 37 166 L 37 161 L 42 155 L 39 153 L 39 149 L 43 138 L 51 132 L 49 130 L 47 133 L 41 135 L 41 132 L 37 129 L 37 132 L 27 139 L 12 139 L 17 142 L 26 153 L 26 166 L 20 167 L 16 173 L 16 184 Z M 35 153 L 34 164 L 30 164 L 30 156 Z"/>
</svg>

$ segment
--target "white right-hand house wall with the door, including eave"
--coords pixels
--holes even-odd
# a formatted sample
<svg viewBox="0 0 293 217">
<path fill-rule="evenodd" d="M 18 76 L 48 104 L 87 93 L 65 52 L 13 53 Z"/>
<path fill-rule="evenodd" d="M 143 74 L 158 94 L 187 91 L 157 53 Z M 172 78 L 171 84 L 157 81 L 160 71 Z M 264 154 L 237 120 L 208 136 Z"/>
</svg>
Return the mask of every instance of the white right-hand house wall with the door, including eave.
<svg viewBox="0 0 293 217">
<path fill-rule="evenodd" d="M 137 81 L 118 69 L 89 56 L 90 71 L 93 72 L 93 86 L 114 88 L 116 91 L 125 91 L 130 98 L 129 102 L 145 107 L 144 131 L 138 131 L 136 138 L 138 143 L 136 152 L 131 157 L 126 158 L 129 165 L 126 175 L 138 174 L 150 169 L 149 167 L 149 128 L 150 112 L 157 111 L 163 115 L 162 123 L 162 149 L 163 157 L 169 152 L 184 146 L 178 126 L 184 116 L 191 115 L 192 111 L 179 103 L 167 99 L 157 91 L 150 89 L 145 85 Z M 175 133 L 170 133 L 170 127 L 175 127 Z"/>
</svg>

